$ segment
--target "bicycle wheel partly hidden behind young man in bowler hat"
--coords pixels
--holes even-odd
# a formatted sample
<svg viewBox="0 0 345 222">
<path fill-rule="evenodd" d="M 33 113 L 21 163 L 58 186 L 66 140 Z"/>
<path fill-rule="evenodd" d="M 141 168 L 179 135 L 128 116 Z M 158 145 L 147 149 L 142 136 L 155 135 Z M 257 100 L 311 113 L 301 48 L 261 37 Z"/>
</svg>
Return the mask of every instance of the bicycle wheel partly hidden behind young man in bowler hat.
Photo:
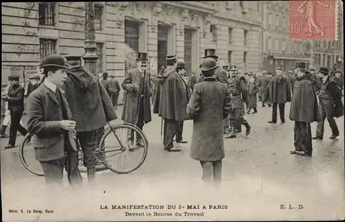
<svg viewBox="0 0 345 222">
<path fill-rule="evenodd" d="M 23 142 L 19 146 L 19 158 L 23 166 L 29 172 L 37 176 L 44 176 L 41 163 L 35 158 L 34 147 L 30 144 L 31 135 L 28 133 L 23 138 Z"/>
</svg>

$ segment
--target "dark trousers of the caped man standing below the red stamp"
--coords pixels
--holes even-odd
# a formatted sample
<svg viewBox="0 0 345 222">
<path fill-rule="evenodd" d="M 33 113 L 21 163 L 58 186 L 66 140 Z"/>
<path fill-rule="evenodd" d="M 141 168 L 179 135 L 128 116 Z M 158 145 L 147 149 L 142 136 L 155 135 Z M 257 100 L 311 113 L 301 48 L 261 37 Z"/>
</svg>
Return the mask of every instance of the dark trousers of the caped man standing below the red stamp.
<svg viewBox="0 0 345 222">
<path fill-rule="evenodd" d="M 306 153 L 313 151 L 311 124 L 309 122 L 295 121 L 293 133 L 295 135 L 294 145 L 297 151 L 304 151 Z"/>
</svg>

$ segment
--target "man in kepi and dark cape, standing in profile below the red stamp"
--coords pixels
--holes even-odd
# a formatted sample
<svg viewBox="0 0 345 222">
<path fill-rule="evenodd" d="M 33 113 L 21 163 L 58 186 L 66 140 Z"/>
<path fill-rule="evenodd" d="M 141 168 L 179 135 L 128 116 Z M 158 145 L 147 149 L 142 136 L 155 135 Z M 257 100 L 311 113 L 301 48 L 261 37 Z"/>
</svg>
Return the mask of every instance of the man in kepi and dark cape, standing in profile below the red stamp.
<svg viewBox="0 0 345 222">
<path fill-rule="evenodd" d="M 290 154 L 311 156 L 313 152 L 311 122 L 321 120 L 317 109 L 317 97 L 313 88 L 313 77 L 306 73 L 306 64 L 301 62 L 295 68 L 297 79 L 290 107 L 290 120 L 295 121 L 295 150 Z"/>
</svg>

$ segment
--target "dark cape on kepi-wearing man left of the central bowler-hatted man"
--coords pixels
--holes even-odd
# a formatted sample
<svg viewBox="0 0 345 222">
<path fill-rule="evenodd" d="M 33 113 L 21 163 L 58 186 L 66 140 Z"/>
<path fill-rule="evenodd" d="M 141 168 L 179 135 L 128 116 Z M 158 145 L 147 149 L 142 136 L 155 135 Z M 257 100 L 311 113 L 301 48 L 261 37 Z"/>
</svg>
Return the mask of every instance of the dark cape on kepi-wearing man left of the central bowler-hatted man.
<svg viewBox="0 0 345 222">
<path fill-rule="evenodd" d="M 184 79 L 172 66 L 167 66 L 163 73 L 157 75 L 157 80 L 153 113 L 169 120 L 188 120 L 186 107 L 190 95 Z"/>
</svg>

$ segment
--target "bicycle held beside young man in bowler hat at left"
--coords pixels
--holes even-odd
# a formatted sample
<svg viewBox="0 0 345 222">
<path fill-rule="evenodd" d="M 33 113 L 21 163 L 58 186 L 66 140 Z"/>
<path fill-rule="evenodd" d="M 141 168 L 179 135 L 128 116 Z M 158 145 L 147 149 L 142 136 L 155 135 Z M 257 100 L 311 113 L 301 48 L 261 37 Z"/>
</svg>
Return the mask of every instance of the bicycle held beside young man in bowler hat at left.
<svg viewBox="0 0 345 222">
<path fill-rule="evenodd" d="M 118 131 L 120 129 L 124 129 L 126 131 L 125 142 L 122 142 L 121 139 L 119 138 Z M 130 131 L 133 141 L 128 140 L 127 138 L 129 134 L 128 131 Z M 112 149 L 110 150 L 107 150 L 107 148 L 109 147 L 106 147 L 106 145 L 110 143 L 108 136 L 113 136 L 115 138 L 115 142 L 117 142 L 117 144 L 115 144 L 117 146 L 111 146 Z M 34 167 L 30 167 L 30 164 L 28 163 L 28 160 L 30 160 L 30 154 L 31 156 L 34 156 L 34 148 L 30 147 L 31 138 L 32 138 L 32 135 L 30 135 L 29 133 L 23 138 L 23 141 L 21 142 L 21 145 L 19 146 L 19 158 L 23 166 L 26 169 L 28 169 L 29 172 L 37 176 L 43 176 L 44 175 L 43 170 L 41 169 L 41 164 L 39 163 L 38 160 L 34 158 L 33 160 L 34 161 L 33 163 L 35 164 Z M 138 141 L 139 142 L 142 141 L 143 144 L 138 145 L 137 144 Z M 78 141 L 77 141 L 77 147 L 79 147 L 78 157 L 79 157 L 79 160 L 81 160 L 83 155 L 82 155 Z M 112 156 L 118 156 L 119 154 L 124 154 L 124 160 L 128 156 L 130 156 L 129 154 L 134 154 L 138 157 L 139 151 L 143 151 L 143 152 L 139 156 L 139 161 L 137 162 L 136 165 L 134 165 L 134 167 L 119 169 L 108 161 L 108 158 L 111 158 Z M 115 152 L 115 154 L 112 154 L 111 156 L 108 156 L 108 157 L 106 156 L 107 154 L 110 154 L 113 152 Z M 127 173 L 135 171 L 135 169 L 138 169 L 144 163 L 147 153 L 148 153 L 148 140 L 144 132 L 141 131 L 141 129 L 139 129 L 134 124 L 130 124 L 127 122 L 124 122 L 123 124 L 117 124 L 117 125 L 111 125 L 108 122 L 108 127 L 104 129 L 104 131 L 100 134 L 98 138 L 97 147 L 95 151 L 96 157 L 99 160 L 99 162 L 101 160 L 101 163 L 103 163 L 103 165 L 105 165 L 107 169 L 110 169 L 112 172 L 115 172 L 118 174 L 127 174 Z M 121 160 L 121 155 L 119 156 Z"/>
</svg>

